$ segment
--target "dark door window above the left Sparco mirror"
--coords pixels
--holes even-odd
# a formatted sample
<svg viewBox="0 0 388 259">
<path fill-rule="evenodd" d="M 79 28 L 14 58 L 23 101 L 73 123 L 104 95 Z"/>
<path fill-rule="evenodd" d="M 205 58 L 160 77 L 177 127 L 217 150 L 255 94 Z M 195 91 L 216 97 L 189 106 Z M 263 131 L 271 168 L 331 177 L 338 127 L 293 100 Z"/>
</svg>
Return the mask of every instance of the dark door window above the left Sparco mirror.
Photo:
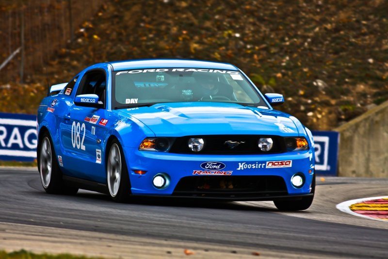
<svg viewBox="0 0 388 259">
<path fill-rule="evenodd" d="M 77 95 L 95 94 L 105 104 L 106 77 L 102 71 L 87 72 L 81 79 Z"/>
</svg>

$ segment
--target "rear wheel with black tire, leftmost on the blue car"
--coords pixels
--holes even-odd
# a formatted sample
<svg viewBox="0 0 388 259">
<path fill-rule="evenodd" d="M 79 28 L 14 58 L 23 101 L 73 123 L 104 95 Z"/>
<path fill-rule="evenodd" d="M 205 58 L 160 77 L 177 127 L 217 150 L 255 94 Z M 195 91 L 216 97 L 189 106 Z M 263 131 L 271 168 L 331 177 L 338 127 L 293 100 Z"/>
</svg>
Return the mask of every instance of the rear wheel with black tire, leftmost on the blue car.
<svg viewBox="0 0 388 259">
<path fill-rule="evenodd" d="M 38 147 L 38 170 L 43 189 L 48 194 L 77 194 L 78 188 L 66 186 L 62 179 L 49 133 L 45 132 Z"/>
</svg>

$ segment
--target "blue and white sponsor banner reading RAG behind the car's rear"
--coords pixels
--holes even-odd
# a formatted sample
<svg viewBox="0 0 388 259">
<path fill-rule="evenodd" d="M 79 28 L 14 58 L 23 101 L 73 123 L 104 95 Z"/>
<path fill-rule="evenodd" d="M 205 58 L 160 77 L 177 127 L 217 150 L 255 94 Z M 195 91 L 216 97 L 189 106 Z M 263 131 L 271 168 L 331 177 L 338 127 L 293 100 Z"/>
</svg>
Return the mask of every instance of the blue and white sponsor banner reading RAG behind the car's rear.
<svg viewBox="0 0 388 259">
<path fill-rule="evenodd" d="M 35 115 L 0 113 L 0 160 L 32 162 L 36 147 Z"/>
</svg>

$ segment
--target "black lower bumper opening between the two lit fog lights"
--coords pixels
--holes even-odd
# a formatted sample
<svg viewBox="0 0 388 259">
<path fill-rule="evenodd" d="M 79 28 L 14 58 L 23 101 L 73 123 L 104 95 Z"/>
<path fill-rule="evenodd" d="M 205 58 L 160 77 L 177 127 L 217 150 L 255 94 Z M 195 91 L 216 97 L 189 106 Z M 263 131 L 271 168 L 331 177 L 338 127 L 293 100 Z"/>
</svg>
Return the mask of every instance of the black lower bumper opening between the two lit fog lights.
<svg viewBox="0 0 388 259">
<path fill-rule="evenodd" d="M 179 180 L 173 195 L 198 197 L 265 197 L 287 195 L 279 176 L 188 176 Z"/>
</svg>

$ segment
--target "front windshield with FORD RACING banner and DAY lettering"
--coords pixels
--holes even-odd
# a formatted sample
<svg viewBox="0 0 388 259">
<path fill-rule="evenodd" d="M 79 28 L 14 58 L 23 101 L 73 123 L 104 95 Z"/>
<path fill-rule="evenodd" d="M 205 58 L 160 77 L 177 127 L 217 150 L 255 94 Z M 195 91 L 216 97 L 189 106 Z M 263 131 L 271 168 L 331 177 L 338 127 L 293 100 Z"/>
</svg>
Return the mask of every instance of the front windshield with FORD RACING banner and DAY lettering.
<svg viewBox="0 0 388 259">
<path fill-rule="evenodd" d="M 239 71 L 201 68 L 154 68 L 115 71 L 113 107 L 163 102 L 229 102 L 264 106 Z"/>
</svg>

